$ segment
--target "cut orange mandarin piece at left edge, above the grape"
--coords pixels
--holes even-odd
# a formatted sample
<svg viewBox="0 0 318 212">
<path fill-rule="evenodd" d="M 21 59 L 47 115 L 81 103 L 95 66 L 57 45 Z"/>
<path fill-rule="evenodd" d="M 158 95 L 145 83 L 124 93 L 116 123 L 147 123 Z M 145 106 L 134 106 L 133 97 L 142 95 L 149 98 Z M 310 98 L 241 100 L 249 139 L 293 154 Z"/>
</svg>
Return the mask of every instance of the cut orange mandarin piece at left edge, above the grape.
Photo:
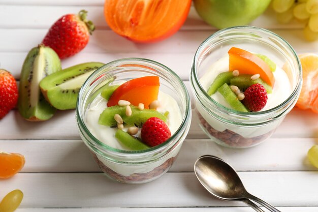
<svg viewBox="0 0 318 212">
<path fill-rule="evenodd" d="M 0 152 L 0 178 L 12 177 L 23 168 L 24 163 L 21 154 Z"/>
</svg>

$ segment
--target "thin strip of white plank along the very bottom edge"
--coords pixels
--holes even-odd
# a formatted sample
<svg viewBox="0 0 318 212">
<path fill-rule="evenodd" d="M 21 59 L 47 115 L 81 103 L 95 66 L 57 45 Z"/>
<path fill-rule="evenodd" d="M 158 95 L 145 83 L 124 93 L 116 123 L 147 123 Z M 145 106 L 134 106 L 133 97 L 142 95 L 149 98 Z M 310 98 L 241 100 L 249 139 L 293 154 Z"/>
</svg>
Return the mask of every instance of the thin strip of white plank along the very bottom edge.
<svg viewBox="0 0 318 212">
<path fill-rule="evenodd" d="M 261 207 L 266 210 L 265 208 Z M 284 212 L 316 212 L 318 207 L 277 207 Z M 177 208 L 118 208 L 118 207 L 103 207 L 103 208 L 18 208 L 16 212 L 250 212 L 249 207 L 177 207 Z"/>
</svg>

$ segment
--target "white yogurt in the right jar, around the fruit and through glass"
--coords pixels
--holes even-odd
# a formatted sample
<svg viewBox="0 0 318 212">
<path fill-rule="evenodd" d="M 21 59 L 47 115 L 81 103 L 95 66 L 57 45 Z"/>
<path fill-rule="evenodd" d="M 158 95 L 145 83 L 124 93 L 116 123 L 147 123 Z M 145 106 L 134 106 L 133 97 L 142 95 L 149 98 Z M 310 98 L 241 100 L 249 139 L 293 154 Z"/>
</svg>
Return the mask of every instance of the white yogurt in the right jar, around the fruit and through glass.
<svg viewBox="0 0 318 212">
<path fill-rule="evenodd" d="M 218 59 L 215 63 L 213 63 L 209 70 L 200 78 L 201 85 L 205 90 L 208 90 L 209 86 L 215 79 L 215 77 L 222 73 L 229 71 L 229 55 L 225 55 Z M 271 108 L 274 108 L 285 101 L 291 94 L 292 88 L 287 74 L 279 67 L 276 67 L 275 72 L 273 72 L 275 77 L 275 84 L 273 87 L 272 94 L 268 94 L 268 100 L 266 106 L 261 110 L 265 111 Z M 225 98 L 219 93 L 211 95 L 211 97 L 221 105 L 225 107 L 232 108 L 225 100 Z M 229 123 L 221 122 L 220 120 L 209 115 L 202 106 L 197 104 L 197 109 L 201 113 L 201 115 L 205 118 L 205 120 L 209 123 L 211 127 L 213 127 L 217 131 L 225 131 L 229 129 L 245 138 L 252 138 L 260 135 L 264 135 L 272 130 L 274 130 L 277 126 L 280 125 L 283 118 L 276 119 L 274 122 L 266 126 L 260 127 L 243 127 L 243 126 L 235 126 Z"/>
</svg>

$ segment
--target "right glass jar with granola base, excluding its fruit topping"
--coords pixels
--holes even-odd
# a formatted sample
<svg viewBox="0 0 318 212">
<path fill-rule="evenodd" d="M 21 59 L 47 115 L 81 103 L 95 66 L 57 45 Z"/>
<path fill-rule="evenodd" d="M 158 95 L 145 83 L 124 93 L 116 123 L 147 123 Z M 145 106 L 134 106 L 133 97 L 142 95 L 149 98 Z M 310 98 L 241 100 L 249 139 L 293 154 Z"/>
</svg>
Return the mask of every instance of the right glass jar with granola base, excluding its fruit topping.
<svg viewBox="0 0 318 212">
<path fill-rule="evenodd" d="M 285 78 L 289 78 L 291 85 L 289 97 L 280 100 L 277 106 L 259 112 L 240 112 L 212 99 L 202 80 L 211 65 L 223 55 L 228 55 L 231 47 L 263 54 L 273 60 L 287 73 Z M 225 68 L 224 71 L 229 71 L 228 66 Z M 220 145 L 243 148 L 269 138 L 293 108 L 301 90 L 302 69 L 294 49 L 278 35 L 259 27 L 237 26 L 216 32 L 199 46 L 193 60 L 190 84 L 203 131 Z"/>
</svg>

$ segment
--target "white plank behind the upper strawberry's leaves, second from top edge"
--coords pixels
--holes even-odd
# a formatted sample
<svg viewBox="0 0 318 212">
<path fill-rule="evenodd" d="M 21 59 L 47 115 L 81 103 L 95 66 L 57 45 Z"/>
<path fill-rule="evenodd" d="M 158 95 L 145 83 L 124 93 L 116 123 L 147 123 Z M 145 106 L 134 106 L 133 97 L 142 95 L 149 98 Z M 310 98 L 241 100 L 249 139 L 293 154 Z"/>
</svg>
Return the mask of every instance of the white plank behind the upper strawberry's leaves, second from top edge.
<svg viewBox="0 0 318 212">
<path fill-rule="evenodd" d="M 5 0 L 6 1 L 6 0 Z M 17 1 L 12 4 L 3 2 L 0 4 L 0 19 L 7 20 L 0 23 L 2 28 L 49 28 L 59 17 L 65 14 L 77 14 L 80 10 L 88 11 L 88 18 L 93 21 L 97 28 L 109 28 L 104 18 L 103 2 L 45 2 L 28 1 L 28 4 Z M 63 2 L 65 4 L 65 1 Z M 86 5 L 82 5 L 86 3 Z M 52 7 L 51 4 L 55 4 Z M 19 16 L 16 16 L 19 14 Z M 33 15 L 29 15 L 33 14 Z M 279 29 L 279 28 L 302 28 L 304 23 L 293 21 L 290 24 L 279 24 L 276 21 L 275 13 L 272 9 L 268 9 L 262 16 L 252 21 L 249 25 L 259 26 L 263 28 Z M 205 23 L 197 14 L 194 7 L 190 8 L 188 17 L 184 22 L 181 30 L 197 30 L 197 29 L 215 29 Z"/>
</svg>

